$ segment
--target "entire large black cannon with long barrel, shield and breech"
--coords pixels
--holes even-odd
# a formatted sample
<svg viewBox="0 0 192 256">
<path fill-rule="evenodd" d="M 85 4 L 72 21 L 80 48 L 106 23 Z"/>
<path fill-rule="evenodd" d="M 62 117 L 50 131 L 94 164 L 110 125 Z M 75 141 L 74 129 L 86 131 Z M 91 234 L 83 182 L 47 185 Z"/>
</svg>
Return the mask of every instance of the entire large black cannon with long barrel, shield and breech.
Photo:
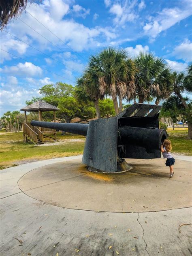
<svg viewBox="0 0 192 256">
<path fill-rule="evenodd" d="M 31 125 L 86 136 L 82 163 L 90 171 L 115 173 L 131 169 L 124 158 L 161 157 L 160 146 L 168 134 L 159 129 L 160 108 L 136 103 L 115 117 L 96 119 L 89 124 L 32 121 Z"/>
</svg>

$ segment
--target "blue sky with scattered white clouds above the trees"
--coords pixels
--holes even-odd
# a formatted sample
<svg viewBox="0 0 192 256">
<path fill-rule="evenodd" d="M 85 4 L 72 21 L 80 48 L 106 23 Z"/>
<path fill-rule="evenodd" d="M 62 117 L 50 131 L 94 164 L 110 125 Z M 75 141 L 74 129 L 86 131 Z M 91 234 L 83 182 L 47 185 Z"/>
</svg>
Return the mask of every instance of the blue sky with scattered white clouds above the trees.
<svg viewBox="0 0 192 256">
<path fill-rule="evenodd" d="M 0 115 L 21 109 L 47 83 L 75 85 L 89 56 L 109 46 L 126 49 L 132 58 L 151 51 L 173 70 L 184 71 L 192 61 L 191 15 L 191 0 L 43 0 L 28 5 L 1 32 Z"/>
</svg>

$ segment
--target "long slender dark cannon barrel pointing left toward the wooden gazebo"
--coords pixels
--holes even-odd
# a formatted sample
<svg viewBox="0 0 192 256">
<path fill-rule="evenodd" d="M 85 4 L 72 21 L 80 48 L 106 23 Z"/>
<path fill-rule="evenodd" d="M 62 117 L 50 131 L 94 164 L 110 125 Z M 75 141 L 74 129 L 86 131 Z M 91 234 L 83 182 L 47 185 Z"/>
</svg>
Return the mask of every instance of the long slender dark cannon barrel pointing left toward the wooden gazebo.
<svg viewBox="0 0 192 256">
<path fill-rule="evenodd" d="M 41 122 L 31 121 L 32 126 L 51 128 L 54 130 L 61 130 L 64 132 L 70 132 L 86 136 L 88 124 L 71 124 L 71 123 L 52 123 L 52 122 Z"/>
</svg>

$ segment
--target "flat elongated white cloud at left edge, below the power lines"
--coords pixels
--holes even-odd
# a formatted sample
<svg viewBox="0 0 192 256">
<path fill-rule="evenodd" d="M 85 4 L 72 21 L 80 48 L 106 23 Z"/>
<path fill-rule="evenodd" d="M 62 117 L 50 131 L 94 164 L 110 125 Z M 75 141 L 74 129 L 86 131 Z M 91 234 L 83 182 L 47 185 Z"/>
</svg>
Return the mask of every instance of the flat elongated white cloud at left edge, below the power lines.
<svg viewBox="0 0 192 256">
<path fill-rule="evenodd" d="M 17 75 L 17 76 L 28 76 L 28 77 L 35 77 L 42 75 L 42 69 L 39 66 L 35 66 L 31 62 L 18 63 L 15 66 L 4 66 L 1 71 L 3 73 Z"/>
</svg>

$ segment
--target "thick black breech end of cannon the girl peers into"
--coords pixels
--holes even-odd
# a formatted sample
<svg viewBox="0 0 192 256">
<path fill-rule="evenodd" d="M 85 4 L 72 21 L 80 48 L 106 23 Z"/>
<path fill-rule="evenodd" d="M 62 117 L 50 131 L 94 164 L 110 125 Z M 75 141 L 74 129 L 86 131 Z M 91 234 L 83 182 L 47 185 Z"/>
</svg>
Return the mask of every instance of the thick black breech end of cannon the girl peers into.
<svg viewBox="0 0 192 256">
<path fill-rule="evenodd" d="M 130 144 L 149 147 L 151 149 L 160 149 L 162 141 L 166 139 L 167 132 L 158 128 L 140 128 L 131 126 L 119 127 L 120 144 L 124 145 L 127 141 Z"/>
</svg>

